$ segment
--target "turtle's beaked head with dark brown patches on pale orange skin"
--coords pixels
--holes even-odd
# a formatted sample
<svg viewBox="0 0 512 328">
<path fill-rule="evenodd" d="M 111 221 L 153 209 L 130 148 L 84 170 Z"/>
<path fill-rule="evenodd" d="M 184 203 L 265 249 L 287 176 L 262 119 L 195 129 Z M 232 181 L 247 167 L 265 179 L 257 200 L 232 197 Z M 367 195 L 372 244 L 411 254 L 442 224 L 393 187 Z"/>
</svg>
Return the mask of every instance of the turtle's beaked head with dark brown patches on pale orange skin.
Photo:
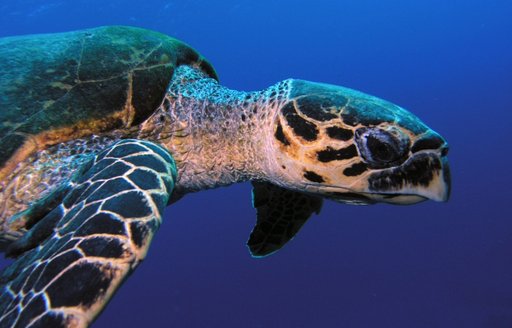
<svg viewBox="0 0 512 328">
<path fill-rule="evenodd" d="M 419 118 L 343 87 L 289 86 L 271 142 L 283 186 L 354 204 L 448 199 L 448 145 Z"/>
</svg>

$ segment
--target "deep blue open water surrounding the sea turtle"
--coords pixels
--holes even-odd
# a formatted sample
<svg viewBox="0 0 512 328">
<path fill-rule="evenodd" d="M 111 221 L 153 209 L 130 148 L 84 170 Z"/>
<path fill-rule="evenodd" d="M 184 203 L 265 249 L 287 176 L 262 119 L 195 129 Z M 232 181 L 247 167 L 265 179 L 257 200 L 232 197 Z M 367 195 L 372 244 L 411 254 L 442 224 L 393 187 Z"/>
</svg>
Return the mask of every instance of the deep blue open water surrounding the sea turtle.
<svg viewBox="0 0 512 328">
<path fill-rule="evenodd" d="M 94 327 L 512 327 L 511 17 L 509 0 L 0 0 L 0 36 L 155 29 L 231 88 L 352 87 L 451 146 L 450 202 L 327 202 L 265 259 L 248 184 L 187 196 Z"/>
</svg>

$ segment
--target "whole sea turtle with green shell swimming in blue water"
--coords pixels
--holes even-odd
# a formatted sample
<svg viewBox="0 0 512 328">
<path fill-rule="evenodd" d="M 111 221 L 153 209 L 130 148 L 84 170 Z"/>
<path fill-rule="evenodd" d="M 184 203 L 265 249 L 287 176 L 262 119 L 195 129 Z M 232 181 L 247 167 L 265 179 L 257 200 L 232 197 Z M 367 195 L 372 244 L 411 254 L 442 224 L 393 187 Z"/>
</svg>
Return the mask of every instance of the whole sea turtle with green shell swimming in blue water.
<svg viewBox="0 0 512 328">
<path fill-rule="evenodd" d="M 322 199 L 449 195 L 448 146 L 399 106 L 285 80 L 221 86 L 186 44 L 133 27 L 0 39 L 0 327 L 86 327 L 145 257 L 166 205 L 252 181 L 253 256 Z"/>
</svg>

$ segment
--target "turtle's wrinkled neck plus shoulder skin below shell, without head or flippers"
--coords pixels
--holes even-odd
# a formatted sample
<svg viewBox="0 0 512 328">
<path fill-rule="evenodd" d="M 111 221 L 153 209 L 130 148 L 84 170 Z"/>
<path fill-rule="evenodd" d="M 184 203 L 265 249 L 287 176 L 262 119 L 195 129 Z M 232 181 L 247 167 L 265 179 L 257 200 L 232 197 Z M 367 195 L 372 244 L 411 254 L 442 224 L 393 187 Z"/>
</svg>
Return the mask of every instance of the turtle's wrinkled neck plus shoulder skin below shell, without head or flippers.
<svg viewBox="0 0 512 328">
<path fill-rule="evenodd" d="M 21 163 L 0 186 L 4 238 L 25 232 L 28 209 L 65 183 L 84 162 L 113 142 L 135 137 L 164 145 L 176 160 L 173 199 L 188 192 L 263 179 L 273 165 L 266 150 L 271 120 L 286 99 L 287 81 L 261 92 L 225 88 L 200 70 L 180 66 L 155 113 L 139 126 L 49 147 Z"/>
</svg>

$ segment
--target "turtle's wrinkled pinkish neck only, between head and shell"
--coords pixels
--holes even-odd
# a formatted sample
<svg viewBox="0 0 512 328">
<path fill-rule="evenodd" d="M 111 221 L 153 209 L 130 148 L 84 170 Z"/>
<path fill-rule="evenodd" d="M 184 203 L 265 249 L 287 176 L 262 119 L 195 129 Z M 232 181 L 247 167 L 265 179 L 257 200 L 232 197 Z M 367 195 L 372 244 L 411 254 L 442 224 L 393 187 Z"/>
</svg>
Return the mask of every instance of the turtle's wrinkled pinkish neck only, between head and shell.
<svg viewBox="0 0 512 328">
<path fill-rule="evenodd" d="M 287 81 L 260 92 L 230 90 L 181 66 L 163 105 L 142 125 L 138 138 L 157 140 L 173 154 L 177 195 L 264 179 L 274 165 L 271 122 L 287 90 Z"/>
</svg>

